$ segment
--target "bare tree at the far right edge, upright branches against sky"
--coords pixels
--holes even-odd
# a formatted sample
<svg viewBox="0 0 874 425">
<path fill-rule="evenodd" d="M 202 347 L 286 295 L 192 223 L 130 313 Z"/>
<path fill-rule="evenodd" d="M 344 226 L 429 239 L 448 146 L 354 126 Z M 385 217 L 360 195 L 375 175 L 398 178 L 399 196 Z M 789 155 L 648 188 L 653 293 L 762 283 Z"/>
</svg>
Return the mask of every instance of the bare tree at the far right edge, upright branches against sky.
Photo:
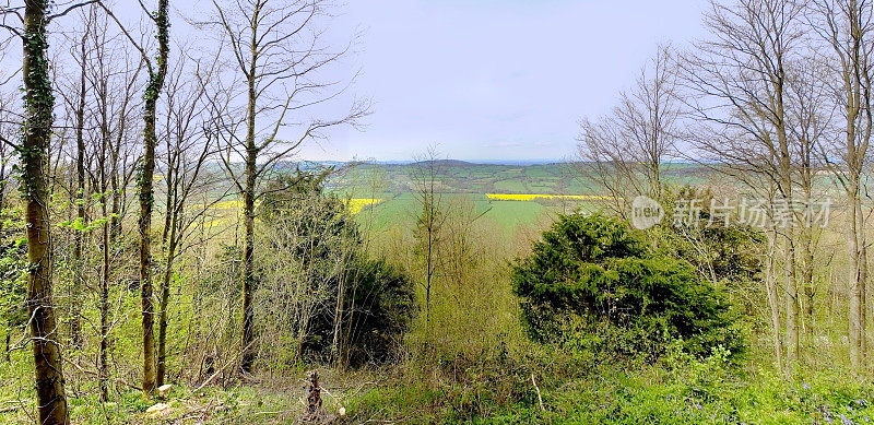
<svg viewBox="0 0 874 425">
<path fill-rule="evenodd" d="M 865 282 L 867 281 L 866 221 L 862 212 L 864 172 L 869 166 L 872 130 L 872 19 L 869 0 L 814 0 L 808 4 L 808 21 L 819 36 L 817 49 L 825 51 L 826 78 L 831 104 L 840 117 L 839 143 L 823 145 L 822 158 L 827 162 L 837 184 L 847 198 L 850 255 L 850 361 L 857 369 L 865 365 Z"/>
</svg>

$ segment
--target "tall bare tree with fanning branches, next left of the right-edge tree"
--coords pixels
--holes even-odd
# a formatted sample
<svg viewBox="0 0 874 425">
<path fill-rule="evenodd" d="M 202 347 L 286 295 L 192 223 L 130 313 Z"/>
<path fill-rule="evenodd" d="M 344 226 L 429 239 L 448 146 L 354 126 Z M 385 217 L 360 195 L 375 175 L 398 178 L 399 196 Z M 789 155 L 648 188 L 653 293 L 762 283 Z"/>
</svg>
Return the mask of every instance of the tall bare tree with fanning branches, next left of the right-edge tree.
<svg viewBox="0 0 874 425">
<path fill-rule="evenodd" d="M 688 106 L 707 123 L 692 133 L 698 151 L 766 200 L 771 199 L 767 188 L 773 188 L 775 201 L 786 205 L 794 201 L 787 108 L 791 62 L 800 56 L 803 34 L 801 11 L 800 4 L 782 0 L 737 0 L 728 5 L 713 1 L 706 19 L 712 37 L 700 43 L 683 66 L 684 84 L 693 94 Z M 800 351 L 793 221 L 776 232 L 782 241 L 786 288 L 786 343 L 775 341 L 782 368 L 781 345 L 790 364 Z M 779 311 L 776 305 L 771 309 Z"/>
</svg>

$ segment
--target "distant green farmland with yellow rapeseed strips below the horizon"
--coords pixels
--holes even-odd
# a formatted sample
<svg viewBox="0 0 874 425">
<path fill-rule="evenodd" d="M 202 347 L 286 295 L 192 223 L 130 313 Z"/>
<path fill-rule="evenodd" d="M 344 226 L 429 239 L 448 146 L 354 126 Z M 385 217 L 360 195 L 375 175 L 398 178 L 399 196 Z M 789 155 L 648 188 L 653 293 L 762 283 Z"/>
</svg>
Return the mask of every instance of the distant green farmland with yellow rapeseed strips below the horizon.
<svg viewBox="0 0 874 425">
<path fill-rule="evenodd" d="M 437 161 L 434 174 L 438 200 L 472 205 L 480 220 L 492 221 L 510 232 L 519 226 L 541 227 L 556 214 L 577 210 L 599 211 L 612 198 L 587 181 L 577 164 L 473 164 Z M 399 220 L 411 223 L 418 215 L 417 182 L 428 163 L 349 164 L 338 169 L 330 190 L 350 199 L 353 213 L 381 229 Z M 704 167 L 670 164 L 668 181 L 698 184 L 707 180 Z M 376 201 L 379 200 L 379 201 Z"/>
</svg>

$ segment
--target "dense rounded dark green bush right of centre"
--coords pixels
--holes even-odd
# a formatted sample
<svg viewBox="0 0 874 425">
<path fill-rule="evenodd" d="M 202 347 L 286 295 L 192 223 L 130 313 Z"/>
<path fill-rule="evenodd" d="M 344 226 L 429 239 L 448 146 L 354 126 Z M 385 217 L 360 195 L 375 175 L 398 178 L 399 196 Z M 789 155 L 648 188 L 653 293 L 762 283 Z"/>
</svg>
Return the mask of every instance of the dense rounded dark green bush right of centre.
<svg viewBox="0 0 874 425">
<path fill-rule="evenodd" d="M 559 216 L 511 279 L 540 342 L 650 359 L 675 339 L 695 354 L 742 347 L 729 304 L 694 267 L 649 252 L 612 219 Z"/>
</svg>

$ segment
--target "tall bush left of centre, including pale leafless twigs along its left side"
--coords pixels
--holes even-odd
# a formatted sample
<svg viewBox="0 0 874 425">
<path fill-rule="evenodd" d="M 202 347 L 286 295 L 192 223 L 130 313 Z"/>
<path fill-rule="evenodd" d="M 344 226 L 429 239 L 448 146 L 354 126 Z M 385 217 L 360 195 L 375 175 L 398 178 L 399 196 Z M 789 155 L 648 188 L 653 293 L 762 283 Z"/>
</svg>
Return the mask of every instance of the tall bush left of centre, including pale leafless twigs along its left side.
<svg viewBox="0 0 874 425">
<path fill-rule="evenodd" d="M 359 366 L 390 358 L 414 308 L 412 282 L 368 258 L 324 175 L 297 173 L 268 185 L 265 243 L 256 250 L 262 351 L 267 357 Z"/>
</svg>

